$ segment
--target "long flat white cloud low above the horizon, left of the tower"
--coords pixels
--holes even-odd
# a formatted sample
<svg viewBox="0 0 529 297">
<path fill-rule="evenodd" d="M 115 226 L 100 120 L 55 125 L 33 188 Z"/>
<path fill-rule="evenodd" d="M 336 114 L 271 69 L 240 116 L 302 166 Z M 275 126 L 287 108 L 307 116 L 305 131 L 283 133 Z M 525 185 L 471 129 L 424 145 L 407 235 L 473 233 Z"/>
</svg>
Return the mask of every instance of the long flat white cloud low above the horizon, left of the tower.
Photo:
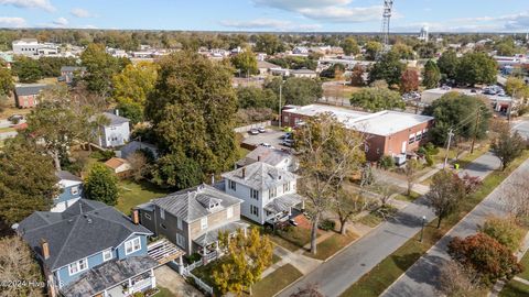
<svg viewBox="0 0 529 297">
<path fill-rule="evenodd" d="M 273 30 L 273 31 L 314 31 L 320 29 L 320 24 L 295 24 L 291 21 L 274 19 L 256 19 L 250 21 L 220 21 L 226 28 L 239 30 Z"/>
</svg>

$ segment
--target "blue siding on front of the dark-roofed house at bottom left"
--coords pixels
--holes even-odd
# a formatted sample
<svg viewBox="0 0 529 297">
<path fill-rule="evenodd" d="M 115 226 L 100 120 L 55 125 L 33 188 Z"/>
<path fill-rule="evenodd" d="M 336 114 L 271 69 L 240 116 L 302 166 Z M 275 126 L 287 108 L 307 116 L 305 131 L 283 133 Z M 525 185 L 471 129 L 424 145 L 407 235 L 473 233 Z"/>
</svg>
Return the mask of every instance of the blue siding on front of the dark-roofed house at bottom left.
<svg viewBox="0 0 529 297">
<path fill-rule="evenodd" d="M 141 250 L 139 250 L 134 253 L 125 255 L 125 242 L 127 242 L 127 241 L 129 241 L 133 238 L 137 238 L 137 237 L 141 238 Z M 112 258 L 120 258 L 121 260 L 121 258 L 126 258 L 126 257 L 129 257 L 129 256 L 147 255 L 147 237 L 145 235 L 133 234 L 130 238 L 128 238 L 125 242 L 122 244 L 120 244 L 117 249 L 112 249 L 112 254 L 114 254 Z M 100 265 L 102 263 L 104 262 L 102 262 L 102 251 L 101 251 L 100 253 L 97 253 L 97 254 L 88 257 L 88 270 L 91 270 L 95 266 Z M 87 272 L 87 271 L 84 271 L 84 272 Z M 57 280 L 61 280 L 62 286 L 65 286 L 65 285 L 72 283 L 73 280 L 76 280 L 80 275 L 83 275 L 83 272 L 71 276 L 69 272 L 68 272 L 68 266 L 64 266 L 64 267 L 55 271 L 54 274 L 55 274 L 56 277 L 58 277 Z"/>
</svg>

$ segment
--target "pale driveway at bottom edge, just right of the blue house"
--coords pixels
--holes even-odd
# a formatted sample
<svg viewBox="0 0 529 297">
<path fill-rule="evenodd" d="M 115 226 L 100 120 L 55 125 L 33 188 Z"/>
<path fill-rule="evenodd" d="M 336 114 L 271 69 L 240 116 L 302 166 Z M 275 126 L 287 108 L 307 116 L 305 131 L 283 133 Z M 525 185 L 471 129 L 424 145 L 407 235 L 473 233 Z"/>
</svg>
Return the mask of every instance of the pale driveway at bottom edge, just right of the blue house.
<svg viewBox="0 0 529 297">
<path fill-rule="evenodd" d="M 156 285 L 169 289 L 175 297 L 203 297 L 199 290 L 187 284 L 182 275 L 177 274 L 168 265 L 154 270 Z"/>
</svg>

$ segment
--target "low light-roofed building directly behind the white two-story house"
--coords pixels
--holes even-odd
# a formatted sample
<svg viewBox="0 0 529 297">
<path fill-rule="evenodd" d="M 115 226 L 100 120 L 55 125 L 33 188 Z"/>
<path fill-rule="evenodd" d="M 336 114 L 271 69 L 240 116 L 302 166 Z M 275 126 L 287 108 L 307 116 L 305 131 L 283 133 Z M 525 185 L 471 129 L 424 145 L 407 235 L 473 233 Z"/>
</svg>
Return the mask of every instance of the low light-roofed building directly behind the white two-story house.
<svg viewBox="0 0 529 297">
<path fill-rule="evenodd" d="M 288 172 L 295 172 L 298 169 L 296 160 L 292 154 L 262 145 L 257 146 L 256 150 L 248 153 L 246 157 L 237 161 L 237 167 L 245 167 L 256 162 L 263 162 Z"/>
</svg>

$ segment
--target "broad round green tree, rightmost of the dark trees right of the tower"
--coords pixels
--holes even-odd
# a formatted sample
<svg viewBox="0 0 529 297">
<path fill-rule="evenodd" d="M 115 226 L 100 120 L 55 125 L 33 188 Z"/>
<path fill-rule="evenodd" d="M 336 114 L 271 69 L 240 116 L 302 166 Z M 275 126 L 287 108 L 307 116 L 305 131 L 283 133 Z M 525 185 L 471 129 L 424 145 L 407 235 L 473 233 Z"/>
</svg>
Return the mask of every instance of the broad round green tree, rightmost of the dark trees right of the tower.
<svg viewBox="0 0 529 297">
<path fill-rule="evenodd" d="M 460 84 L 495 84 L 498 73 L 496 61 L 486 53 L 465 54 L 457 64 L 456 80 Z"/>
</svg>

